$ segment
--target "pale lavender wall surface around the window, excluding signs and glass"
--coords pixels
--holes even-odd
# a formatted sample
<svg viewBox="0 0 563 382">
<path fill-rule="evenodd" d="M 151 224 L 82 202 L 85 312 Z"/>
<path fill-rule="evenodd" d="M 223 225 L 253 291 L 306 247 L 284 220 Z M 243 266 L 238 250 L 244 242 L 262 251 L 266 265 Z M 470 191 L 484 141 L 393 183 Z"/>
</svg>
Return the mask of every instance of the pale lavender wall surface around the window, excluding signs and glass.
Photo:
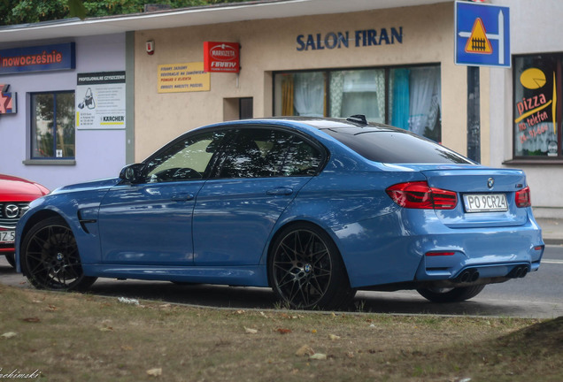
<svg viewBox="0 0 563 382">
<path fill-rule="evenodd" d="M 27 93 L 74 90 L 76 73 L 125 70 L 125 34 L 3 44 L 0 50 L 62 42 L 76 44 L 75 70 L 0 75 L 0 83 L 10 84 L 10 91 L 18 94 L 17 114 L 0 116 L 0 172 L 34 180 L 50 189 L 117 176 L 125 165 L 125 130 L 76 131 L 75 165 L 23 164 L 30 151 Z"/>
</svg>

